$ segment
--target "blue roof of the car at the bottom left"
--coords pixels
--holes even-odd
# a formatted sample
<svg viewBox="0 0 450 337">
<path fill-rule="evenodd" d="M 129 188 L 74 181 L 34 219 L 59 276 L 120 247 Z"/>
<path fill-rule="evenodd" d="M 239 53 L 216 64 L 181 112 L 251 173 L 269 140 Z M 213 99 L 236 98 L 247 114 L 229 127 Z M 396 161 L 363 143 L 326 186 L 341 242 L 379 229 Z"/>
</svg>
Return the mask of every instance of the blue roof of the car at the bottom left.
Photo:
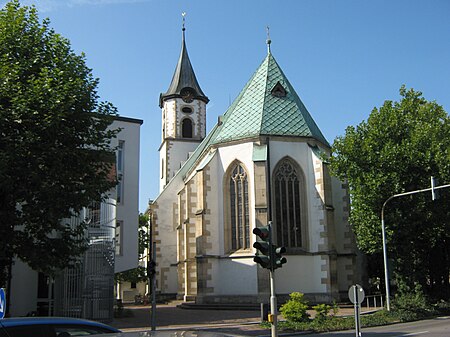
<svg viewBox="0 0 450 337">
<path fill-rule="evenodd" d="M 36 325 L 36 324 L 58 324 L 58 325 L 89 325 L 109 329 L 111 331 L 120 332 L 120 330 L 109 325 L 90 321 L 81 318 L 70 317 L 12 317 L 0 320 L 0 324 L 4 327 L 12 327 L 18 325 Z"/>
</svg>

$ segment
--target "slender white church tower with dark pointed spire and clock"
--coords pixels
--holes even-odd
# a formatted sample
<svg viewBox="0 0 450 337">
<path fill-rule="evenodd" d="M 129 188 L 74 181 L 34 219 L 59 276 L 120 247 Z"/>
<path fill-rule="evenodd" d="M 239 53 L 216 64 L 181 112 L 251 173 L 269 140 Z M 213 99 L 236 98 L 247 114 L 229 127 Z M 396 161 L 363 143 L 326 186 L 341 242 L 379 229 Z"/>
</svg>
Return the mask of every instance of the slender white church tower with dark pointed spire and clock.
<svg viewBox="0 0 450 337">
<path fill-rule="evenodd" d="M 166 93 L 161 94 L 162 142 L 160 157 L 160 192 L 189 158 L 206 135 L 206 104 L 189 60 L 185 42 L 183 13 L 181 53 Z"/>
</svg>

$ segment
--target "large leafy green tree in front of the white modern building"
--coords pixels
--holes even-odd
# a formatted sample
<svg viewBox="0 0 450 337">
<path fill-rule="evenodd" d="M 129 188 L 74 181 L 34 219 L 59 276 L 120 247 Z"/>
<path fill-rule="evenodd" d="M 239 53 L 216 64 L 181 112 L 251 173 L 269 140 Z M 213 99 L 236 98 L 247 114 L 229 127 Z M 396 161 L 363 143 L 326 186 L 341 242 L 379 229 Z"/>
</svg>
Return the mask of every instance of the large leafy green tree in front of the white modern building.
<svg viewBox="0 0 450 337">
<path fill-rule="evenodd" d="M 14 258 L 47 274 L 83 252 L 85 224 L 63 219 L 116 184 L 116 109 L 98 79 L 34 7 L 0 10 L 0 286 Z"/>
</svg>

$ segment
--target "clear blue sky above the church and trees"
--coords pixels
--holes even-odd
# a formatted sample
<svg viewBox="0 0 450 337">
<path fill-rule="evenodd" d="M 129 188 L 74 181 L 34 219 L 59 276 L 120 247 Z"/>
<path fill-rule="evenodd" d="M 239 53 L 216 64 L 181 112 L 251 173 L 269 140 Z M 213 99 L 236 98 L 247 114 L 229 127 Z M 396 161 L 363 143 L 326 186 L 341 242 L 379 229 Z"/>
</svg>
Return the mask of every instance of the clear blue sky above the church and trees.
<svg viewBox="0 0 450 337">
<path fill-rule="evenodd" d="M 6 1 L 0 0 L 0 6 Z M 402 84 L 450 111 L 448 0 L 22 0 L 84 52 L 101 100 L 141 128 L 140 204 L 158 194 L 159 94 L 181 48 L 209 97 L 210 130 L 271 51 L 330 143 Z"/>
</svg>

